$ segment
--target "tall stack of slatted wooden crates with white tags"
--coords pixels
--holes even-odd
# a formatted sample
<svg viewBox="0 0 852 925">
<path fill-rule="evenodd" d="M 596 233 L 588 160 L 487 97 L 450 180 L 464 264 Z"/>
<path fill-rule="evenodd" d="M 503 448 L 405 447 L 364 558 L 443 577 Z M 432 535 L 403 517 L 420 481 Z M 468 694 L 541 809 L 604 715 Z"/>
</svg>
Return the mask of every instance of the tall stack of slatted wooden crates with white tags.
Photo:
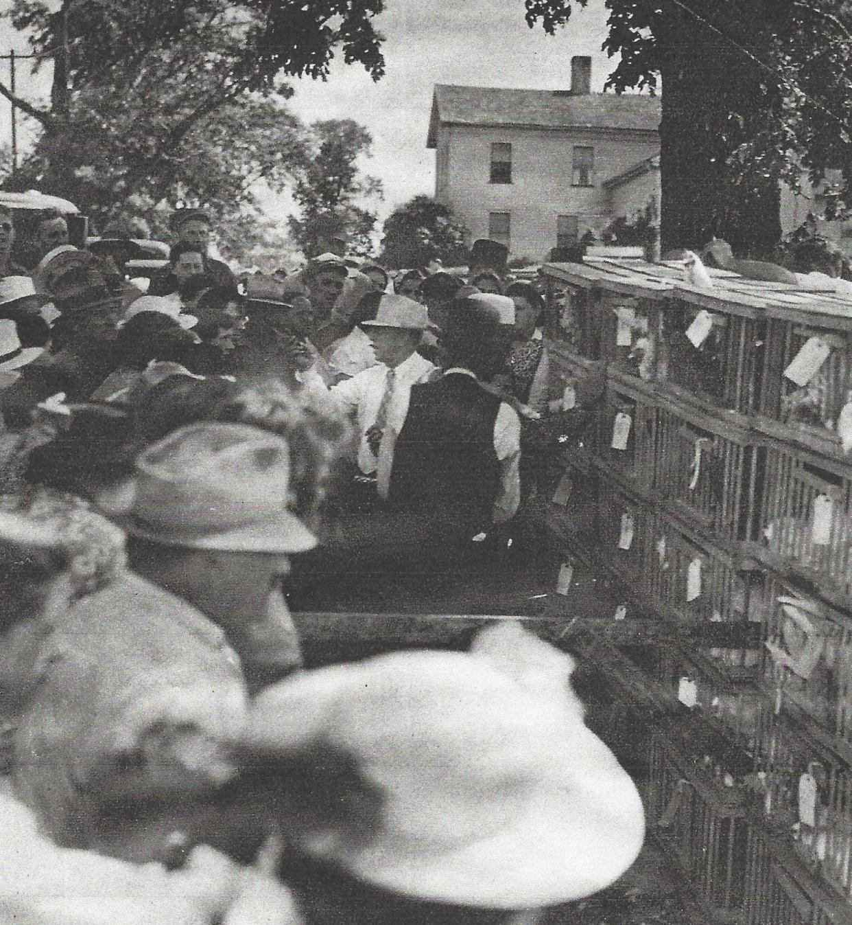
<svg viewBox="0 0 852 925">
<path fill-rule="evenodd" d="M 544 267 L 554 393 L 604 379 L 594 524 L 566 558 L 678 627 L 643 673 L 681 720 L 654 731 L 646 797 L 702 898 L 852 922 L 852 299 L 711 272 Z M 683 635 L 712 623 L 724 645 Z"/>
</svg>

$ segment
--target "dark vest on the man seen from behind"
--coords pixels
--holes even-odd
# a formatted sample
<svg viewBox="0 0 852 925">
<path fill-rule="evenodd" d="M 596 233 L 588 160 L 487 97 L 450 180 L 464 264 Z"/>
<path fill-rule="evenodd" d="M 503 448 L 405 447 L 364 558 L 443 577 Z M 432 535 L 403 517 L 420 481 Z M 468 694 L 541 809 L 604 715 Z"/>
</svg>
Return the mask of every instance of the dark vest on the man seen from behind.
<svg viewBox="0 0 852 925">
<path fill-rule="evenodd" d="M 413 386 L 396 440 L 389 500 L 456 524 L 490 524 L 500 487 L 494 451 L 500 404 L 462 374 Z"/>
</svg>

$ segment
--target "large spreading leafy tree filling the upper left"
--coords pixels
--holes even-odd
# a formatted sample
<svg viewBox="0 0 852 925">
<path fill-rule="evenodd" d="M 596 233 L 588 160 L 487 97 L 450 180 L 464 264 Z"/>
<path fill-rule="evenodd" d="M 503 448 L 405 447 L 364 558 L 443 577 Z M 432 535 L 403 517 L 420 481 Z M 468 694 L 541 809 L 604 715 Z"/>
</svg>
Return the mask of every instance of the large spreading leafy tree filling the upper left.
<svg viewBox="0 0 852 925">
<path fill-rule="evenodd" d="M 156 225 L 178 202 L 256 216 L 257 181 L 283 189 L 308 154 L 282 80 L 324 77 L 337 52 L 381 77 L 382 2 L 14 0 L 13 24 L 54 75 L 48 105 L 0 82 L 41 129 L 6 188 L 38 185 L 97 224 L 129 205 Z"/>
</svg>

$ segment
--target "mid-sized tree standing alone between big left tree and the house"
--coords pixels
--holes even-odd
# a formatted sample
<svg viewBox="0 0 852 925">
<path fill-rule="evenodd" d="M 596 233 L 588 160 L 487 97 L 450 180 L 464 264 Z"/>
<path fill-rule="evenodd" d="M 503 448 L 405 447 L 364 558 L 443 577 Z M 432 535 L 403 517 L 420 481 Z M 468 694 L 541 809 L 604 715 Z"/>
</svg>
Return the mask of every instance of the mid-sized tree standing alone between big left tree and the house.
<svg viewBox="0 0 852 925">
<path fill-rule="evenodd" d="M 369 256 L 376 216 L 364 203 L 382 198 L 382 183 L 359 167 L 370 154 L 370 132 L 352 119 L 314 122 L 310 129 L 310 153 L 293 191 L 301 214 L 289 219 L 290 232 L 309 256 L 319 253 L 322 237 L 341 231 L 352 253 Z"/>
</svg>

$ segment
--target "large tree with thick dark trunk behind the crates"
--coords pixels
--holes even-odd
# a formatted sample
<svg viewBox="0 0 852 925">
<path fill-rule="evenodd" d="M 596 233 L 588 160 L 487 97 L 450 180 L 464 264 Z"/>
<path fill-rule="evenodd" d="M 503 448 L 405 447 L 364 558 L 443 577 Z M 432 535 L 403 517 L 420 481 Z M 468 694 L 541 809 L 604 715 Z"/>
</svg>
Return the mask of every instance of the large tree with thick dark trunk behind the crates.
<svg viewBox="0 0 852 925">
<path fill-rule="evenodd" d="M 553 32 L 588 0 L 526 0 Z M 780 237 L 778 184 L 850 169 L 848 0 L 606 0 L 616 92 L 662 78 L 663 247 Z"/>
</svg>

